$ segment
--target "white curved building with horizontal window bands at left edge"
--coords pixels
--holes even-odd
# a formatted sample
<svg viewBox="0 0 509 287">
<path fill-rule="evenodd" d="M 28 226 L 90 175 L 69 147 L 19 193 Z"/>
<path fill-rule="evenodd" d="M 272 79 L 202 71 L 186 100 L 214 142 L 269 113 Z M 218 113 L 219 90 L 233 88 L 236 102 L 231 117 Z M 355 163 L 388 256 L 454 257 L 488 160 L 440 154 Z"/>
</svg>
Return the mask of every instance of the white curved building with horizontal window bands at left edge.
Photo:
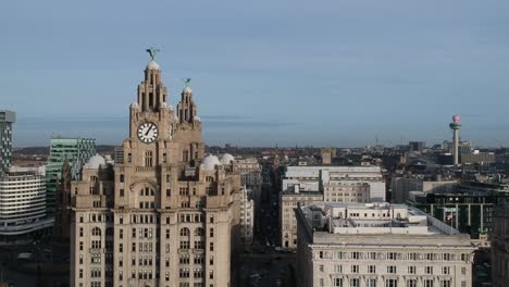
<svg viewBox="0 0 509 287">
<path fill-rule="evenodd" d="M 0 175 L 0 236 L 3 242 L 30 240 L 49 233 L 42 169 L 13 167 Z"/>
</svg>

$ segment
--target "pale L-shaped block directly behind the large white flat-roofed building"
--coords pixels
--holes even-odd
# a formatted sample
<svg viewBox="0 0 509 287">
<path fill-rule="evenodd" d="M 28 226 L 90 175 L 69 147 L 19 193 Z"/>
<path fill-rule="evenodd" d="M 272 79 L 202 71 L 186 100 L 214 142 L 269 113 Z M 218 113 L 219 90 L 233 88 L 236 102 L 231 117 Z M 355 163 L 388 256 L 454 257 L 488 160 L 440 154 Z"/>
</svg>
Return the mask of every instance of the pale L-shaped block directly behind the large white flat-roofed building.
<svg viewBox="0 0 509 287">
<path fill-rule="evenodd" d="M 282 247 L 297 247 L 298 203 L 384 200 L 385 180 L 377 166 L 288 166 L 280 196 Z"/>
</svg>

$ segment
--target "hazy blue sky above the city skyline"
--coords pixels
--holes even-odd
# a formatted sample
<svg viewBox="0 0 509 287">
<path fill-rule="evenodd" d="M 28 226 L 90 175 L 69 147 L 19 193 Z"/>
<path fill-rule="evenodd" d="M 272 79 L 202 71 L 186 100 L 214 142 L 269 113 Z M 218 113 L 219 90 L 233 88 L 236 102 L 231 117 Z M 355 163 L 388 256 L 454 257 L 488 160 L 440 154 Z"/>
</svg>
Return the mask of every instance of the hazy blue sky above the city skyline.
<svg viewBox="0 0 509 287">
<path fill-rule="evenodd" d="M 16 147 L 120 145 L 157 61 L 190 86 L 209 145 L 509 146 L 509 1 L 5 1 L 0 110 Z"/>
</svg>

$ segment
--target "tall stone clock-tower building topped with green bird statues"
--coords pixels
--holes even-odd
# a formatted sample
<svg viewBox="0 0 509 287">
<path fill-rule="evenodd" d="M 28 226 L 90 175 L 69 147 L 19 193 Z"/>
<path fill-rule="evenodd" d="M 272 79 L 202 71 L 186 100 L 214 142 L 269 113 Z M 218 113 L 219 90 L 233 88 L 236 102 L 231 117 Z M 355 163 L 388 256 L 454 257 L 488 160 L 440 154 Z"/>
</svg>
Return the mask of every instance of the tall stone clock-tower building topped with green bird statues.
<svg viewBox="0 0 509 287">
<path fill-rule="evenodd" d="M 95 155 L 72 183 L 71 286 L 235 286 L 240 177 L 204 157 L 191 89 L 170 105 L 149 52 L 124 162 Z"/>
</svg>

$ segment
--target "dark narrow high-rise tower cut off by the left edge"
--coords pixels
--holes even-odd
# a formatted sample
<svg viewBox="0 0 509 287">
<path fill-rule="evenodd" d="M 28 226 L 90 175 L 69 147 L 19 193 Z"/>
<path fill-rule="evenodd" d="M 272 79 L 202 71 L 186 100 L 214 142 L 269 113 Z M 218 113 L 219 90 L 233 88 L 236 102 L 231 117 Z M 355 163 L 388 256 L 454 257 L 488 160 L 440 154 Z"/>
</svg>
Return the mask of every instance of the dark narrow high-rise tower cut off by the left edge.
<svg viewBox="0 0 509 287">
<path fill-rule="evenodd" d="M 16 113 L 0 111 L 0 175 L 11 166 L 12 158 L 12 124 L 16 122 Z"/>
</svg>

